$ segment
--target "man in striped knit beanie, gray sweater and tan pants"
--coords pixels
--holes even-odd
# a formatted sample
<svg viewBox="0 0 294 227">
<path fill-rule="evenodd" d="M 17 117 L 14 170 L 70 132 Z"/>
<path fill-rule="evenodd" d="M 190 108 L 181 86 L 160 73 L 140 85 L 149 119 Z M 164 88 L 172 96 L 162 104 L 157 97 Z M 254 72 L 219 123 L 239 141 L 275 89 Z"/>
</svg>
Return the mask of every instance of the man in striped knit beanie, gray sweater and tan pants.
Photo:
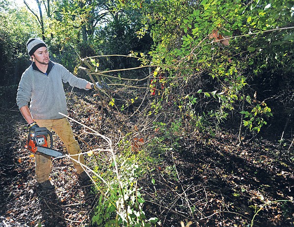
<svg viewBox="0 0 294 227">
<path fill-rule="evenodd" d="M 69 121 L 58 114 L 59 112 L 68 114 L 63 83 L 68 82 L 73 87 L 85 90 L 97 89 L 99 84 L 94 85 L 77 78 L 62 65 L 50 61 L 47 45 L 42 40 L 29 39 L 26 46 L 33 62 L 22 75 L 16 100 L 28 123 L 28 128 L 33 129 L 40 126 L 48 130 L 53 129 L 65 144 L 69 154 L 80 154 L 81 149 L 73 136 Z M 29 102 L 30 107 L 28 107 Z M 84 164 L 82 155 L 72 158 Z M 54 189 L 49 181 L 51 158 L 36 154 L 35 160 L 36 181 L 44 190 Z M 90 179 L 78 162 L 73 160 L 73 165 L 81 181 L 85 182 Z"/>
</svg>

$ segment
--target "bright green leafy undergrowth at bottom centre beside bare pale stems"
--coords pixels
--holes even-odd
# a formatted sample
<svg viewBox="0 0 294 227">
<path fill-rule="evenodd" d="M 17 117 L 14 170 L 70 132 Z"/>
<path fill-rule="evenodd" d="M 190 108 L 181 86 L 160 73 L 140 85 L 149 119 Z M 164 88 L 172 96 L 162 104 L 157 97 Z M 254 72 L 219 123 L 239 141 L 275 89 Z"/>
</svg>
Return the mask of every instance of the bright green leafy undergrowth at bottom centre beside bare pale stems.
<svg viewBox="0 0 294 227">
<path fill-rule="evenodd" d="M 95 172 L 108 182 L 103 184 L 94 177 L 96 186 L 94 191 L 99 195 L 95 207 L 92 225 L 105 227 L 151 227 L 156 226 L 158 218 L 146 217 L 143 206 L 144 199 L 138 179 L 149 171 L 150 158 L 144 151 L 131 152 L 131 144 L 122 142 L 121 154 L 116 157 L 120 179 L 116 177 L 114 162 L 108 164 L 102 171 L 96 165 Z M 121 186 L 120 186 L 121 185 Z"/>
</svg>

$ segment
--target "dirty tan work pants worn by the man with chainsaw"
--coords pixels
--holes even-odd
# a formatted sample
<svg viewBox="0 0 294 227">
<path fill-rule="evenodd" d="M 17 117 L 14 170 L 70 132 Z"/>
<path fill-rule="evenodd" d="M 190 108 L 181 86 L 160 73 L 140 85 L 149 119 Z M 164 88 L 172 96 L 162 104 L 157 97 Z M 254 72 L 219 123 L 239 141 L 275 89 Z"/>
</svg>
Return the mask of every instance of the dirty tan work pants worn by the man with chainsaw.
<svg viewBox="0 0 294 227">
<path fill-rule="evenodd" d="M 73 136 L 73 130 L 70 126 L 68 119 L 53 119 L 53 120 L 35 120 L 40 127 L 46 127 L 48 130 L 53 129 L 54 132 L 63 141 L 68 153 L 70 155 L 76 155 L 81 153 L 81 149 L 78 142 Z M 49 142 L 49 140 L 48 140 Z M 50 144 L 50 143 L 49 143 Z M 36 180 L 39 183 L 49 180 L 49 174 L 51 172 L 51 157 L 47 155 L 36 154 Z M 84 164 L 84 158 L 80 156 L 72 156 L 73 159 L 78 160 Z M 76 169 L 76 173 L 80 174 L 83 172 L 83 168 L 79 163 L 73 160 L 73 165 Z"/>
</svg>

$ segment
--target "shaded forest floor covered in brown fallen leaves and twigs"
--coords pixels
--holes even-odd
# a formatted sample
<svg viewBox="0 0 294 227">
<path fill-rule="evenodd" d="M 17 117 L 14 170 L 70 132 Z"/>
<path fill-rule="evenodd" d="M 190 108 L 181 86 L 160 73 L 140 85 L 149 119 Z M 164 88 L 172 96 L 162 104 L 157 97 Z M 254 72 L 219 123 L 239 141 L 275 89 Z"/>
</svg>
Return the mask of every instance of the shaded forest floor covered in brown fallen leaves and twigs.
<svg viewBox="0 0 294 227">
<path fill-rule="evenodd" d="M 77 93 L 69 105 L 71 117 L 99 128 L 97 101 Z M 101 145 L 97 137 L 84 134 L 83 127 L 71 124 L 83 151 Z M 89 225 L 98 200 L 93 185 L 78 181 L 70 160 L 54 159 L 55 190 L 40 190 L 34 157 L 24 148 L 25 125 L 16 106 L 0 109 L 0 226 Z M 105 120 L 100 133 L 118 140 L 116 133 L 108 135 L 108 128 L 115 126 Z M 154 141 L 146 137 L 145 146 L 158 161 L 150 163 L 139 184 L 146 216 L 157 217 L 157 226 L 294 226 L 293 149 L 278 159 L 276 138 L 259 137 L 238 146 L 234 133 L 219 132 L 207 139 L 191 134 L 178 141 L 181 149 L 157 151 L 148 141 Z M 56 136 L 54 148 L 65 152 Z"/>
</svg>

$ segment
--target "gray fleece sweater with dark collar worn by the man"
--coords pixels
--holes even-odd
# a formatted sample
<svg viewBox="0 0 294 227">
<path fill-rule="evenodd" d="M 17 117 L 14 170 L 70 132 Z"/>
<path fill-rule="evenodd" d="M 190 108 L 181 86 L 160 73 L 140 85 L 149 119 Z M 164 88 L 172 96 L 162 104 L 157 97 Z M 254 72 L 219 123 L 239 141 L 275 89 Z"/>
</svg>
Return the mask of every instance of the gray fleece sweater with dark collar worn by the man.
<svg viewBox="0 0 294 227">
<path fill-rule="evenodd" d="M 53 63 L 53 62 L 52 62 Z M 25 70 L 19 83 L 16 102 L 19 108 L 27 106 L 33 119 L 59 119 L 68 114 L 63 83 L 73 87 L 86 89 L 88 81 L 74 76 L 69 70 L 58 63 L 48 75 L 34 70 L 32 65 Z"/>
</svg>

